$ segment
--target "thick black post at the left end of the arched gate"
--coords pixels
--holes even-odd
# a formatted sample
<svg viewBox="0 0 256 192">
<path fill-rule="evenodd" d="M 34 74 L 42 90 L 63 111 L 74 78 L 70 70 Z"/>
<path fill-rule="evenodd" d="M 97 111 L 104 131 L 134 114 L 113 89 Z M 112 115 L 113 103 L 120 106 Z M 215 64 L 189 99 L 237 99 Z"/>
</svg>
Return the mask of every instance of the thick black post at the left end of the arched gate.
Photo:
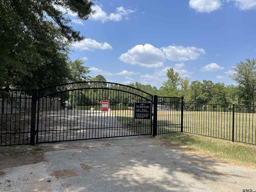
<svg viewBox="0 0 256 192">
<path fill-rule="evenodd" d="M 37 92 L 36 92 L 36 89 L 33 89 L 32 90 L 32 104 L 31 104 L 30 145 L 35 145 L 35 135 L 36 135 L 36 100 L 37 100 Z"/>
</svg>

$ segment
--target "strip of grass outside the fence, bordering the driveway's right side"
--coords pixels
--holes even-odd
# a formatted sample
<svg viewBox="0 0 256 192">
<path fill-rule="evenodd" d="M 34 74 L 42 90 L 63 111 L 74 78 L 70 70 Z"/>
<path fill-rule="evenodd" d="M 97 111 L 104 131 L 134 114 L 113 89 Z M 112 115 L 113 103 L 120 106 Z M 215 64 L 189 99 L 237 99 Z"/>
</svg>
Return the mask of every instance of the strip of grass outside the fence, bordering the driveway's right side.
<svg viewBox="0 0 256 192">
<path fill-rule="evenodd" d="M 164 134 L 156 139 L 168 146 L 222 162 L 256 167 L 256 146 L 253 145 L 188 133 Z"/>
</svg>

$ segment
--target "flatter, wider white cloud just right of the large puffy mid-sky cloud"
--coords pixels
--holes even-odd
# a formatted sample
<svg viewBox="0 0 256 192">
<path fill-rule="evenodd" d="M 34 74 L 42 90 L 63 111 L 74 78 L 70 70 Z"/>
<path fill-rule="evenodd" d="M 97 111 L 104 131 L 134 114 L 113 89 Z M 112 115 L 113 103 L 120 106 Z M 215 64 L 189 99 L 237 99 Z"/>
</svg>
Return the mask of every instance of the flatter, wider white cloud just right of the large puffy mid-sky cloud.
<svg viewBox="0 0 256 192">
<path fill-rule="evenodd" d="M 161 48 L 166 58 L 171 61 L 196 60 L 200 54 L 205 54 L 204 49 L 184 46 L 168 46 Z"/>
</svg>

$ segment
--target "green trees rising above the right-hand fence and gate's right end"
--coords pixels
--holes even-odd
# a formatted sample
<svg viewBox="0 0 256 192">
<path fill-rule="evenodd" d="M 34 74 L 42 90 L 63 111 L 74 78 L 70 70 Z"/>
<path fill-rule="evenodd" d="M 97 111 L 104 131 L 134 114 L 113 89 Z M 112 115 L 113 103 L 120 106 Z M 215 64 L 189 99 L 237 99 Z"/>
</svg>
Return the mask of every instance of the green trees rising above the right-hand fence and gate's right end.
<svg viewBox="0 0 256 192">
<path fill-rule="evenodd" d="M 256 61 L 246 59 L 240 61 L 232 68 L 234 74 L 229 78 L 235 81 L 235 85 L 213 83 L 211 80 L 192 81 L 188 77 L 180 77 L 172 67 L 166 72 L 167 80 L 159 89 L 151 85 L 143 85 L 139 82 L 130 86 L 144 90 L 152 95 L 168 97 L 184 97 L 188 103 L 208 104 L 244 104 L 254 105 L 256 101 Z"/>
</svg>

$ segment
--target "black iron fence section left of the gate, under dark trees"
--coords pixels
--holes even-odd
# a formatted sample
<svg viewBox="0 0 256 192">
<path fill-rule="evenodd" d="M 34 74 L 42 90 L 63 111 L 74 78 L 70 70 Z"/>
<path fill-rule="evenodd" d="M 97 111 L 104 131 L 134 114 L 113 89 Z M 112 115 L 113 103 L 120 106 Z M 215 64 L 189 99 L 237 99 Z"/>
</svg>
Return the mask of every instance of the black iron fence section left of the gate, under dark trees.
<svg viewBox="0 0 256 192">
<path fill-rule="evenodd" d="M 32 91 L 0 90 L 0 146 L 30 144 Z"/>
</svg>

